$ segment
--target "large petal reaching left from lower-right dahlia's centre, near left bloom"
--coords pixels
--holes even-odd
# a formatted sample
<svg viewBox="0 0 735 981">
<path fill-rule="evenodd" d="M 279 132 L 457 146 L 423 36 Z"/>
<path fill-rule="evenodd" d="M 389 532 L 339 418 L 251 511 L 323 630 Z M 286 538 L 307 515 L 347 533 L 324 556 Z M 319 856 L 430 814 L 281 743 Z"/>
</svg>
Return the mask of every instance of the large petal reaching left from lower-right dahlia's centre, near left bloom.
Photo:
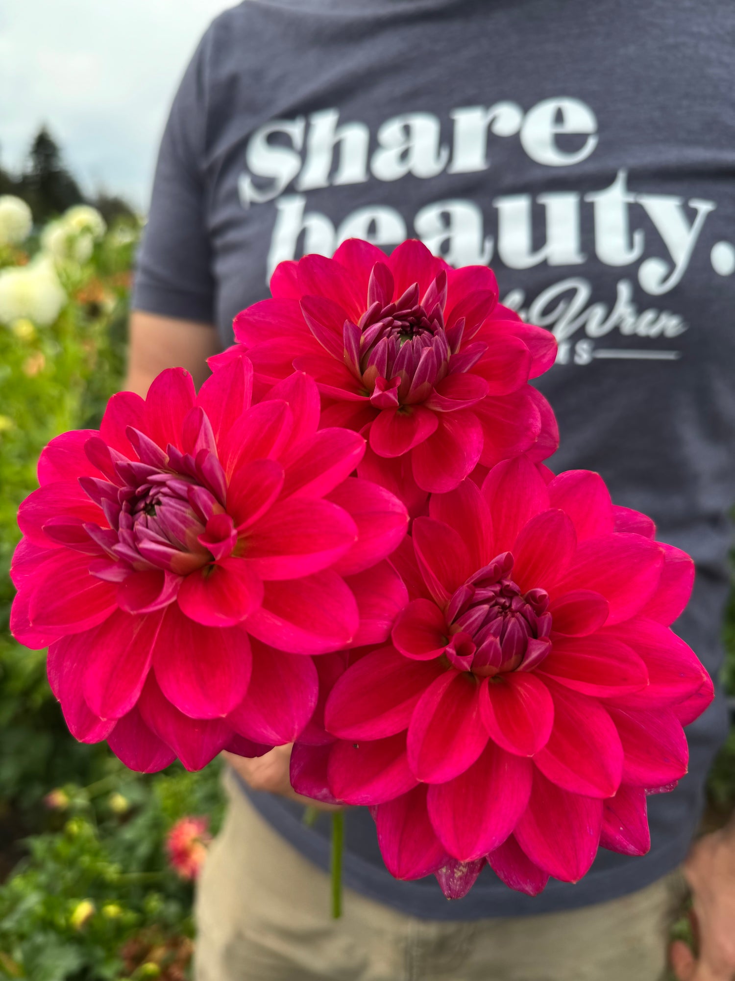
<svg viewBox="0 0 735 981">
<path fill-rule="evenodd" d="M 336 682 L 324 708 L 324 725 L 346 740 L 383 739 L 402 732 L 418 699 L 445 670 L 430 661 L 402 657 L 393 647 L 381 647 Z"/>
</svg>

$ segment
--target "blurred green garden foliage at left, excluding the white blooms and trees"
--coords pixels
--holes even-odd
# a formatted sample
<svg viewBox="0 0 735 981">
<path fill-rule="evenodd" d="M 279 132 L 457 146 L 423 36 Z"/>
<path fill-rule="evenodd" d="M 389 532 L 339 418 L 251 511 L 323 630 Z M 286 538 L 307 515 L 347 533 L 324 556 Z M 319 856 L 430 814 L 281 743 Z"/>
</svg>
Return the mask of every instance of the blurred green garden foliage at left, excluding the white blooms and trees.
<svg viewBox="0 0 735 981">
<path fill-rule="evenodd" d="M 105 744 L 76 743 L 45 651 L 9 631 L 16 513 L 38 455 L 65 430 L 96 428 L 120 387 L 138 232 L 128 218 L 83 261 L 55 257 L 67 302 L 53 324 L 0 324 L 0 978 L 183 981 L 191 885 L 170 868 L 166 836 L 186 814 L 209 815 L 213 831 L 221 820 L 216 764 L 144 776 Z M 0 247 L 0 269 L 25 265 L 43 239 Z"/>
</svg>

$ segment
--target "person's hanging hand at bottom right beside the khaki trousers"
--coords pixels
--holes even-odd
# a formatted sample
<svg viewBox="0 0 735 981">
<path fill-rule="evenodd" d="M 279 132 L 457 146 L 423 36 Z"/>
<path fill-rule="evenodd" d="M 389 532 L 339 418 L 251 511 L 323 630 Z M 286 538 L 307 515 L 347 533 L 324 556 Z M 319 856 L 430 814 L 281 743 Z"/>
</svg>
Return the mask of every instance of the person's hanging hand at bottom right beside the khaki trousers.
<svg viewBox="0 0 735 981">
<path fill-rule="evenodd" d="M 732 981 L 735 978 L 735 819 L 692 847 L 684 875 L 699 927 L 699 956 L 681 940 L 671 945 L 678 981 Z"/>
</svg>

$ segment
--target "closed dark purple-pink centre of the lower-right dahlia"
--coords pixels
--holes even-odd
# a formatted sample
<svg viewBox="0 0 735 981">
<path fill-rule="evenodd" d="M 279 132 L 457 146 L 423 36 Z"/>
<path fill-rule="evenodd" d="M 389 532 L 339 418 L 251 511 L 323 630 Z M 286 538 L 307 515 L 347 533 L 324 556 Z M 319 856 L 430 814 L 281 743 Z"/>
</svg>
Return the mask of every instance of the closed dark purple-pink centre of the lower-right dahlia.
<svg viewBox="0 0 735 981">
<path fill-rule="evenodd" d="M 544 590 L 521 593 L 513 564 L 510 552 L 498 555 L 450 600 L 446 654 L 461 671 L 477 677 L 527 671 L 551 649 L 549 596 Z"/>
</svg>

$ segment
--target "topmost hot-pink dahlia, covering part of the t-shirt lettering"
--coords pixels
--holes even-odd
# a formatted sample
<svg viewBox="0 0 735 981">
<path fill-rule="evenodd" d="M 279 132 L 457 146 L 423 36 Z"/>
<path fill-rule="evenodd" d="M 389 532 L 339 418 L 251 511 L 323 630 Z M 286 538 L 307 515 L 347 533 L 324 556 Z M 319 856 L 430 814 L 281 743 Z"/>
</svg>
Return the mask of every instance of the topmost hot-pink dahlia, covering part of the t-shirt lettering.
<svg viewBox="0 0 735 981">
<path fill-rule="evenodd" d="M 281 263 L 270 290 L 234 323 L 257 378 L 312 375 L 322 425 L 368 434 L 366 473 L 407 502 L 452 490 L 478 463 L 556 449 L 554 414 L 527 384 L 556 341 L 498 304 L 485 266 L 452 269 L 418 241 L 388 257 L 352 238 L 333 259 Z"/>
</svg>

